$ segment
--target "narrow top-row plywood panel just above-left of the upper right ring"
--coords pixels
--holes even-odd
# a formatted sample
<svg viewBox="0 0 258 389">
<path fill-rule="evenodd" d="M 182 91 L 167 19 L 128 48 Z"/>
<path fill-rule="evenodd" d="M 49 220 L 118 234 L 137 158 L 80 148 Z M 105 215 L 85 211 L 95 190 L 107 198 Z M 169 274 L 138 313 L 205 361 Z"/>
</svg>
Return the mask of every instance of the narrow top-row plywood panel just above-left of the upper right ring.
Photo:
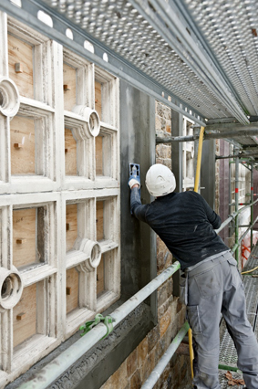
<svg viewBox="0 0 258 389">
<path fill-rule="evenodd" d="M 64 63 L 63 75 L 64 85 L 67 85 L 69 89 L 64 90 L 65 110 L 72 110 L 77 103 L 77 69 Z"/>
</svg>

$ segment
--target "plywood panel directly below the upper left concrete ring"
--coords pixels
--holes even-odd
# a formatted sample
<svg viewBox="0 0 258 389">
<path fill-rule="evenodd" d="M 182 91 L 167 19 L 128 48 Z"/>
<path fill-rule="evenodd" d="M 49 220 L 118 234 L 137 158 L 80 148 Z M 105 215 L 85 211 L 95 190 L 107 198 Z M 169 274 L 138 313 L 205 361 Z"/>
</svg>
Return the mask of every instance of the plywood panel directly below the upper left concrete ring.
<svg viewBox="0 0 258 389">
<path fill-rule="evenodd" d="M 35 121 L 15 116 L 10 121 L 11 173 L 35 174 Z M 15 143 L 21 147 L 15 147 Z"/>
</svg>

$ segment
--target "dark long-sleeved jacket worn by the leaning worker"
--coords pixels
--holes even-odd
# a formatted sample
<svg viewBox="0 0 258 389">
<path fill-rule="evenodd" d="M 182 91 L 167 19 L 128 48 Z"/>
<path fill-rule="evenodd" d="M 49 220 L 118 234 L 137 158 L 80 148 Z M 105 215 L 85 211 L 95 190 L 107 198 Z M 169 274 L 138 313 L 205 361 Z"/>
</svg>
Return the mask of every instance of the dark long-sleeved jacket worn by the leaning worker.
<svg viewBox="0 0 258 389">
<path fill-rule="evenodd" d="M 130 207 L 159 235 L 182 270 L 229 250 L 214 231 L 222 224 L 220 216 L 195 192 L 171 193 L 141 205 L 139 189 L 133 188 Z"/>
</svg>

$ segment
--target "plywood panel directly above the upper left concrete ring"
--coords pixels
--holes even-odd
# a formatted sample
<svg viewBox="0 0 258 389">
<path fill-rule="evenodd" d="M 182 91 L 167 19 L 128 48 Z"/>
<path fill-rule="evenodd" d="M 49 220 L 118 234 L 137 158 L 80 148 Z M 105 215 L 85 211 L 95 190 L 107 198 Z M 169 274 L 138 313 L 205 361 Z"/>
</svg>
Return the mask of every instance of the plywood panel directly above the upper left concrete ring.
<svg viewBox="0 0 258 389">
<path fill-rule="evenodd" d="M 15 63 L 19 63 L 22 73 L 15 72 Z M 15 81 L 22 96 L 34 99 L 33 87 L 33 47 L 8 34 L 9 77 Z"/>
</svg>

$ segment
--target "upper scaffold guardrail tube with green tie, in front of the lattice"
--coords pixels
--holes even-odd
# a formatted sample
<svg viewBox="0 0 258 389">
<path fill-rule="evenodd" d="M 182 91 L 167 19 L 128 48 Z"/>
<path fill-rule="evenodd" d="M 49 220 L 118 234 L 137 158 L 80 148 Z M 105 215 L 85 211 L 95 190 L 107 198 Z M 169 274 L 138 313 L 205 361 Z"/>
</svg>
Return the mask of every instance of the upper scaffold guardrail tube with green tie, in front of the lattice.
<svg viewBox="0 0 258 389">
<path fill-rule="evenodd" d="M 123 321 L 129 313 L 135 310 L 139 304 L 146 300 L 151 293 L 157 290 L 181 267 L 180 263 L 176 261 L 169 268 L 166 268 L 159 276 L 152 279 L 149 284 L 140 289 L 134 296 L 122 304 L 117 310 L 114 310 L 110 316 L 115 320 L 114 328 Z M 19 389 L 45 389 L 52 384 L 57 378 L 65 373 L 67 369 L 84 355 L 88 350 L 96 345 L 107 333 L 107 327 L 103 323 L 99 323 L 91 331 L 86 333 L 81 339 L 67 348 L 66 351 L 61 352 L 57 358 L 52 362 L 47 363 L 44 369 L 34 374 L 32 380 L 27 381 L 19 386 Z"/>
</svg>

